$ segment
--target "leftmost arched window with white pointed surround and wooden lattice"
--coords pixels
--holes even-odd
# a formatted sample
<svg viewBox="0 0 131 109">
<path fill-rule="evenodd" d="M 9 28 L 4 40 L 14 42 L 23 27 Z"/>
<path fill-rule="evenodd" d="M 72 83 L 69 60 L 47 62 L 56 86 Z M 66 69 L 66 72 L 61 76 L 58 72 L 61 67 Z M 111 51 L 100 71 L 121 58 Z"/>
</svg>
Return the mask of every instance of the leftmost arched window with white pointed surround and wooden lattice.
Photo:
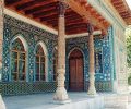
<svg viewBox="0 0 131 109">
<path fill-rule="evenodd" d="M 17 34 L 10 44 L 10 81 L 27 81 L 27 43 Z"/>
</svg>

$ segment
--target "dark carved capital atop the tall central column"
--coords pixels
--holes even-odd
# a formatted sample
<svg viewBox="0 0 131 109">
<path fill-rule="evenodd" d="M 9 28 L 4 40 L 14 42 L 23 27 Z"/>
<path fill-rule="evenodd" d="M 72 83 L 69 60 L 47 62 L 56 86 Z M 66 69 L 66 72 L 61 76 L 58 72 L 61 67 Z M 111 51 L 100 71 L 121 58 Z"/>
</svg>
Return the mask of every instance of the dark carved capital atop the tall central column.
<svg viewBox="0 0 131 109">
<path fill-rule="evenodd" d="M 64 2 L 64 0 L 60 0 L 59 1 L 59 7 L 58 7 L 59 16 L 64 16 L 67 8 L 68 8 L 68 4 Z"/>
</svg>

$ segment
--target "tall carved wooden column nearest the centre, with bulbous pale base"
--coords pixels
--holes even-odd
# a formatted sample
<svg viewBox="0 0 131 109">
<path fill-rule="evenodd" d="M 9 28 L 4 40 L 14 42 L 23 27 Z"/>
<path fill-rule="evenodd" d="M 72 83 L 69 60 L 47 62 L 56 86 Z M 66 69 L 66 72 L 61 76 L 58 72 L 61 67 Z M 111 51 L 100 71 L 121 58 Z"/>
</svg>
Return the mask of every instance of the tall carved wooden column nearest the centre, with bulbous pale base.
<svg viewBox="0 0 131 109">
<path fill-rule="evenodd" d="M 67 90 L 64 88 L 66 81 L 66 25 L 64 13 L 67 4 L 64 0 L 59 1 L 59 22 L 58 22 L 58 77 L 57 77 L 57 90 L 53 99 L 61 104 L 69 100 Z"/>
</svg>

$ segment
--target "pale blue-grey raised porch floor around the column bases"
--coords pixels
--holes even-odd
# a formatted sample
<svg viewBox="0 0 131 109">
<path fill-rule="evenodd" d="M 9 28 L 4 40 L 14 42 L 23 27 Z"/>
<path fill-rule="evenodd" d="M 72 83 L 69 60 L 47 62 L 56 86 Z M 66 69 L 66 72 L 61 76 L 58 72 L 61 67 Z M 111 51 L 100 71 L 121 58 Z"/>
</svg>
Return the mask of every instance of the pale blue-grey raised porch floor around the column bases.
<svg viewBox="0 0 131 109">
<path fill-rule="evenodd" d="M 71 104 L 57 105 L 53 94 L 35 94 L 25 96 L 4 97 L 7 109 L 102 109 L 104 97 L 91 98 L 87 93 L 68 93 Z"/>
</svg>

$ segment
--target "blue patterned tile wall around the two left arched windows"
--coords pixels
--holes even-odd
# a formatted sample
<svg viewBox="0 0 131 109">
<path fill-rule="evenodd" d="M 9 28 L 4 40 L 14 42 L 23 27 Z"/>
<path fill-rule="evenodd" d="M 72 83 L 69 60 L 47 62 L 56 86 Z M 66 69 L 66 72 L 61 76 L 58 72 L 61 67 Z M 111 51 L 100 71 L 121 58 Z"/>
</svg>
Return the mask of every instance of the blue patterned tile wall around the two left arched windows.
<svg viewBox="0 0 131 109">
<path fill-rule="evenodd" d="M 57 36 L 37 28 L 33 25 L 24 23 L 22 21 L 15 20 L 9 15 L 4 15 L 4 36 L 3 36 L 3 72 L 2 81 L 10 81 L 10 45 L 11 40 L 16 37 L 16 35 L 22 35 L 28 45 L 28 82 L 34 81 L 34 48 L 39 40 L 44 41 L 48 51 L 48 80 L 52 78 L 52 51 L 57 45 Z"/>
</svg>

